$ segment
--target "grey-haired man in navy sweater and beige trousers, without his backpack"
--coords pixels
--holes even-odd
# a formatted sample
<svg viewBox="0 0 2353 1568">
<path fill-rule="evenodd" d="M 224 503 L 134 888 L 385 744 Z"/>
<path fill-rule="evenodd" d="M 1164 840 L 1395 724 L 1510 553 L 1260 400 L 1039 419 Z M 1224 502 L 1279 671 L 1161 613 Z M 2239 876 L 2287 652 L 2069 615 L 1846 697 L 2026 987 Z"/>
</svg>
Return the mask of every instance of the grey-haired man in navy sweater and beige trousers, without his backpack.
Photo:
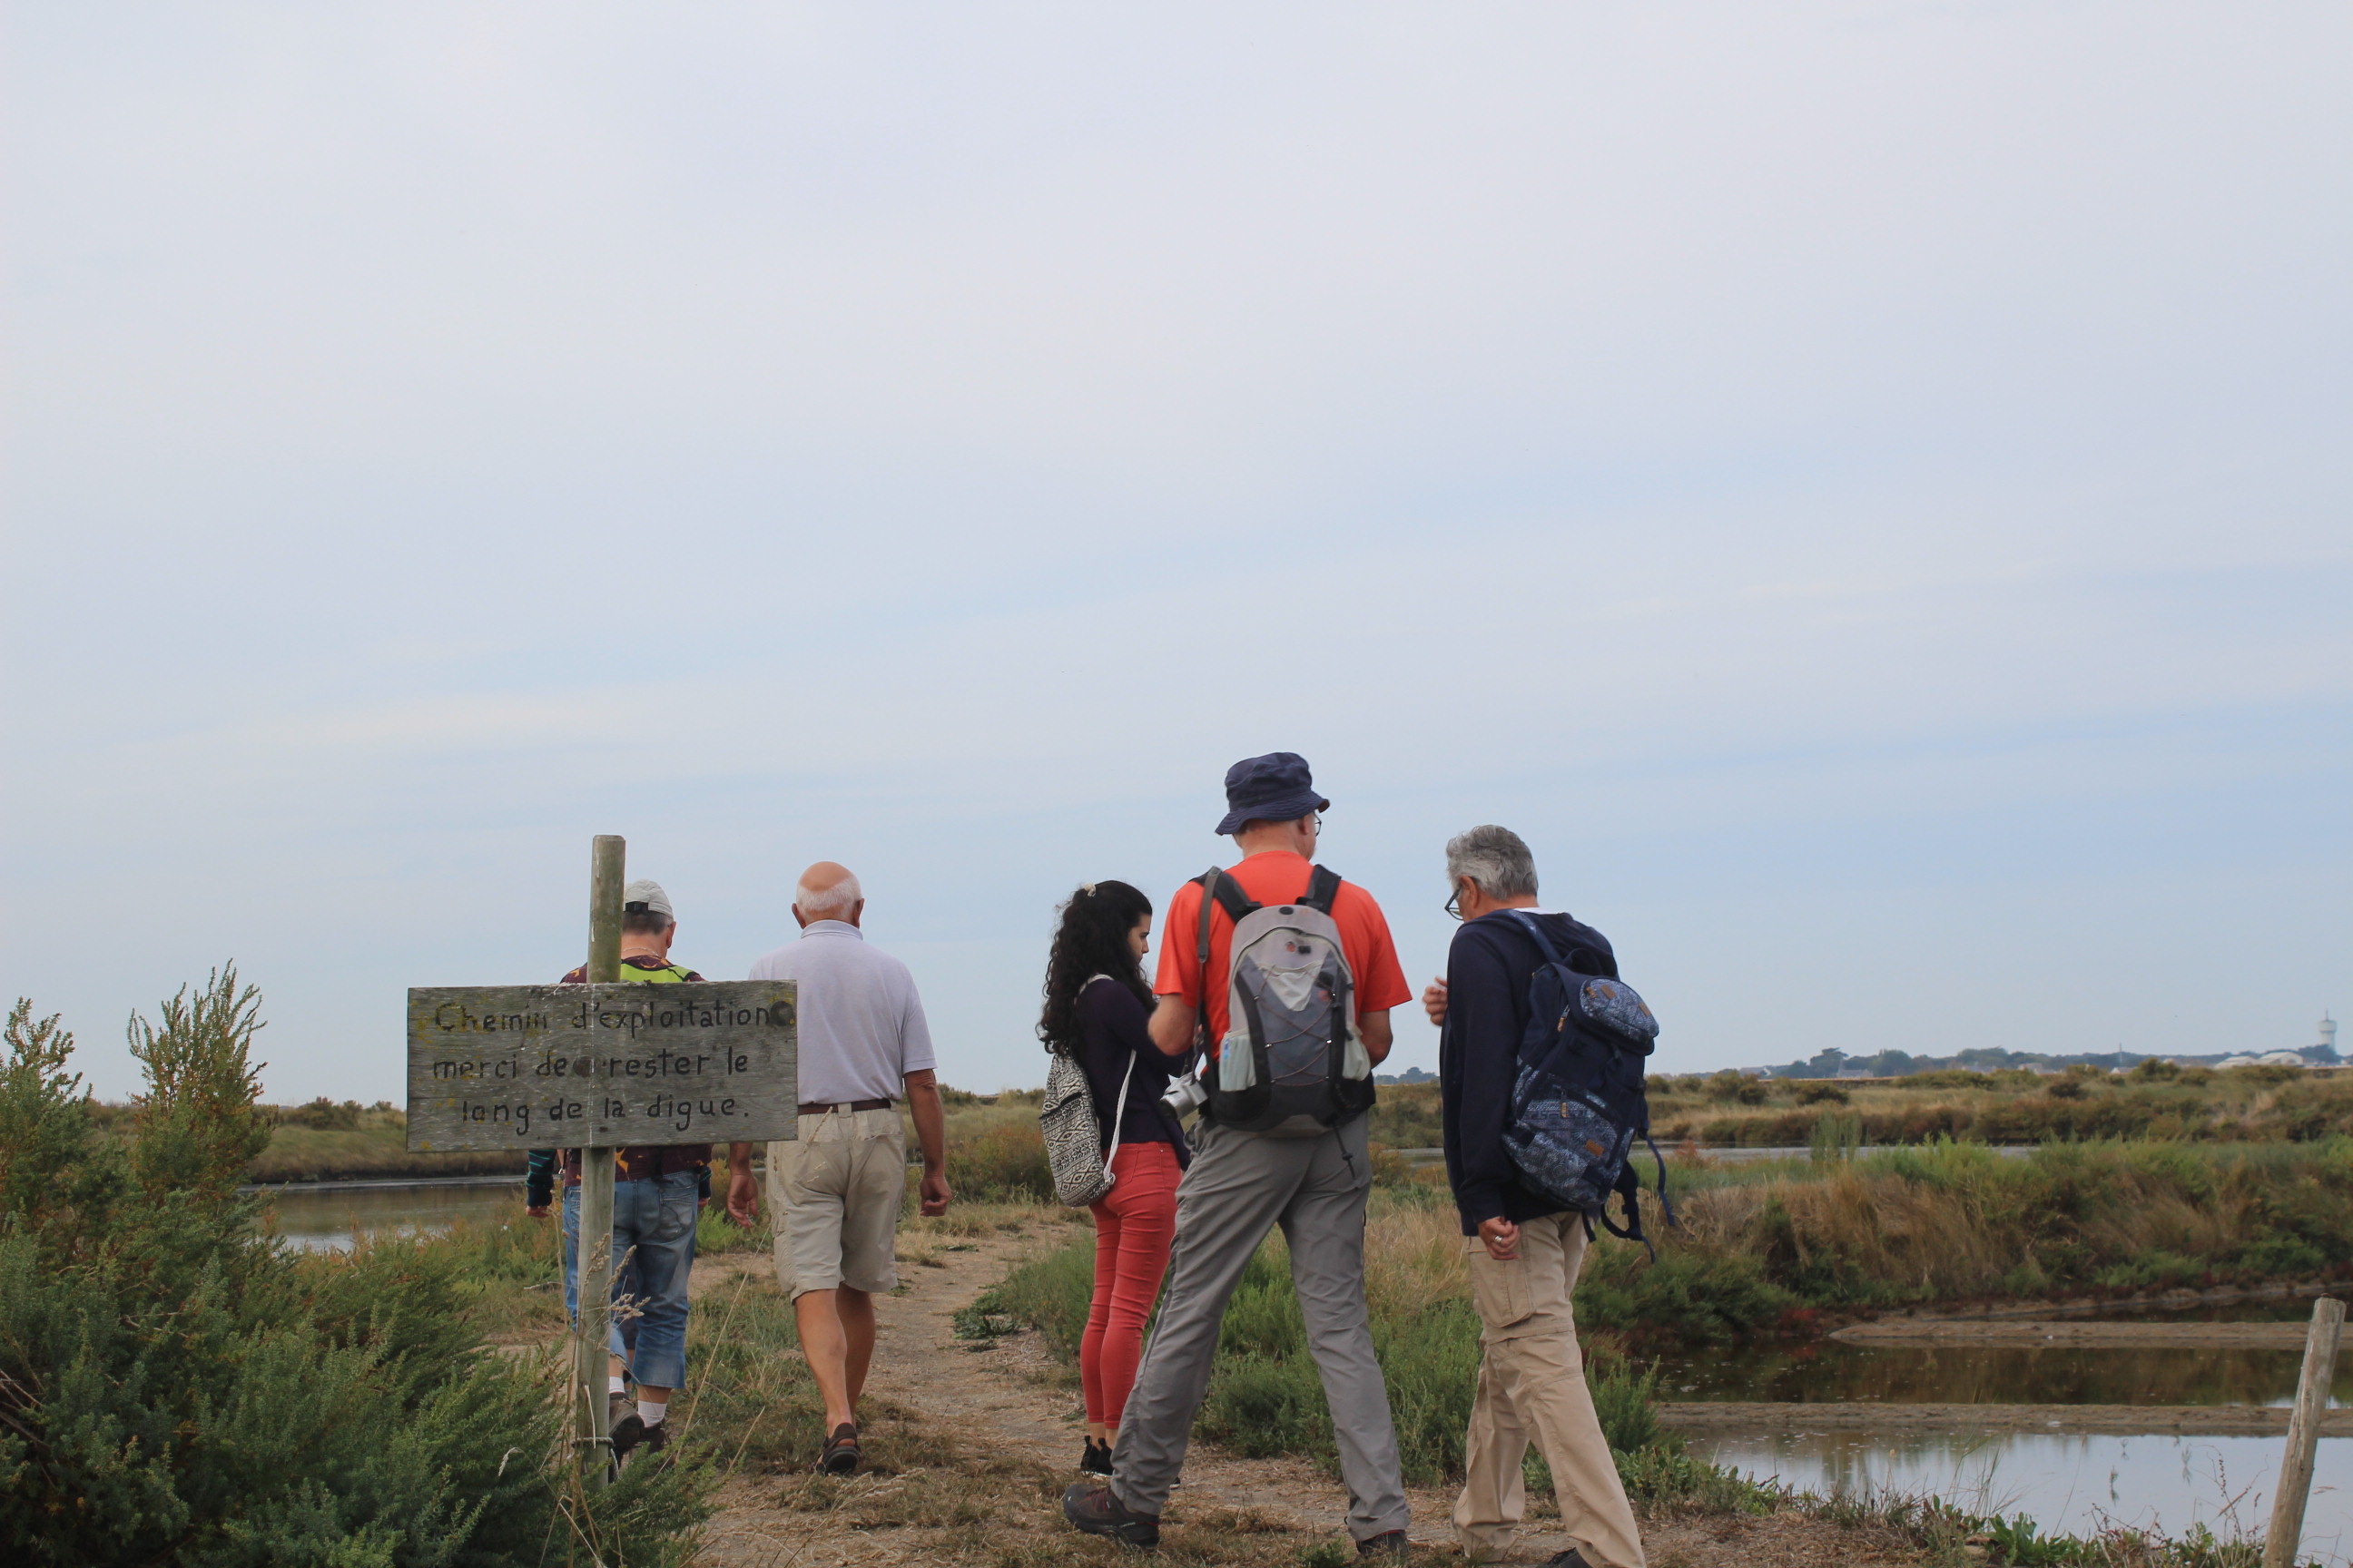
<svg viewBox="0 0 2353 1568">
<path fill-rule="evenodd" d="M 1593 1413 L 1569 1293 L 1586 1258 L 1586 1218 L 1520 1182 L 1504 1150 L 1529 976 L 1551 961 L 1537 933 L 1579 973 L 1617 976 L 1593 926 L 1537 907 L 1537 858 L 1511 827 L 1447 839 L 1447 912 L 1464 922 L 1447 976 L 1421 997 L 1438 1037 L 1447 1182 L 1464 1227 L 1480 1314 L 1478 1396 L 1454 1528 L 1471 1554 L 1511 1547 L 1525 1512 L 1520 1462 L 1534 1439 L 1553 1469 L 1560 1528 L 1574 1542 L 1546 1568 L 1645 1568 L 1626 1488 Z"/>
</svg>

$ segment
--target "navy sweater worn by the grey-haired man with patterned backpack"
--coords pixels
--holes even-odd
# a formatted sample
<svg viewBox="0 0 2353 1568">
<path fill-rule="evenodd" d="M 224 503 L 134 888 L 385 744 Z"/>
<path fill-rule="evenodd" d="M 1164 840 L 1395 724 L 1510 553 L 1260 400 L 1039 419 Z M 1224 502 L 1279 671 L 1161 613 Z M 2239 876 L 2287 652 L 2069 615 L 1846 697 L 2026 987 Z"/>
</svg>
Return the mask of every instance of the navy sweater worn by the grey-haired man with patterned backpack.
<svg viewBox="0 0 2353 1568">
<path fill-rule="evenodd" d="M 1546 936 L 1579 973 L 1617 976 L 1609 938 L 1567 914 L 1537 914 Z M 1511 912 L 1482 914 L 1454 933 L 1447 950 L 1447 1025 L 1438 1034 L 1440 1126 L 1447 1143 L 1447 1182 L 1464 1234 L 1497 1215 L 1518 1225 L 1555 1213 L 1560 1204 L 1520 1185 L 1520 1168 L 1504 1152 L 1511 1086 L 1520 1074 L 1527 1034 L 1527 983 L 1544 964 Z"/>
</svg>

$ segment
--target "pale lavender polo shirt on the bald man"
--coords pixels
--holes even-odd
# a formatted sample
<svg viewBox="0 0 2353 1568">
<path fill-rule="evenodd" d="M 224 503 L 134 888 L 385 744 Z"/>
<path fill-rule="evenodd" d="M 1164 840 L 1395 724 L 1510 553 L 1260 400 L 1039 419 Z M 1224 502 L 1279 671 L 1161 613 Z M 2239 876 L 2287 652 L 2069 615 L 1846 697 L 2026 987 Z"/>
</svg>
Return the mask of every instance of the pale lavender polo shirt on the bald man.
<svg viewBox="0 0 2353 1568">
<path fill-rule="evenodd" d="M 904 1100 L 901 1079 L 936 1065 L 915 976 L 849 922 L 812 919 L 751 978 L 800 985 L 802 1105 Z"/>
</svg>

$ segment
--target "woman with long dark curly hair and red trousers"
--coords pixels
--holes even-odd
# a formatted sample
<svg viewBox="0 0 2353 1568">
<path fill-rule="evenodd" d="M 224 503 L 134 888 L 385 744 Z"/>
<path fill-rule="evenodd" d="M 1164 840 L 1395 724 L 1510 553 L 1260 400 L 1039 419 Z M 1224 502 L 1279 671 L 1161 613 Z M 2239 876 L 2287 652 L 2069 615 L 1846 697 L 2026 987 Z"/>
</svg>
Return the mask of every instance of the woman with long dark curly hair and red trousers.
<svg viewBox="0 0 2353 1568">
<path fill-rule="evenodd" d="M 1045 1048 L 1075 1056 L 1085 1067 L 1106 1145 L 1113 1114 L 1120 1119 L 1113 1185 L 1092 1204 L 1094 1305 L 1078 1342 L 1078 1375 L 1087 1389 L 1087 1453 L 1078 1467 L 1096 1476 L 1111 1474 L 1111 1443 L 1144 1354 L 1144 1319 L 1160 1298 L 1176 1234 L 1176 1180 L 1191 1157 L 1176 1114 L 1160 1103 L 1174 1063 L 1144 1030 L 1153 1006 L 1153 987 L 1144 983 L 1151 936 L 1153 900 L 1125 882 L 1089 882 L 1071 893 L 1045 966 L 1045 1013 L 1038 1018 Z"/>
</svg>

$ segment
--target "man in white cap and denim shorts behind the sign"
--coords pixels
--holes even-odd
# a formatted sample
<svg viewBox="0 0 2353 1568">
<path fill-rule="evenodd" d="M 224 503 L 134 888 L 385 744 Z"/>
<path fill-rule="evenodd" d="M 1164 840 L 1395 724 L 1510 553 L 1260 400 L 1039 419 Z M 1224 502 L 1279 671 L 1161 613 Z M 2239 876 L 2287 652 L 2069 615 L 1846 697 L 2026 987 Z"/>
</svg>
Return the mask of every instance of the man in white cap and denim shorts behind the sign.
<svg viewBox="0 0 2353 1568">
<path fill-rule="evenodd" d="M 678 917 L 659 882 L 640 877 L 621 889 L 621 978 L 640 985 L 689 985 L 701 976 L 671 961 Z M 565 985 L 588 980 L 581 964 Z M 748 1143 L 727 1145 L 727 1211 L 751 1225 L 758 1187 Z M 581 1152 L 560 1152 L 565 1173 L 565 1312 L 579 1316 Z M 525 1213 L 548 1218 L 555 1197 L 558 1150 L 532 1150 Z M 631 1145 L 614 1154 L 612 1178 L 612 1298 L 633 1312 L 612 1326 L 612 1450 L 661 1448 L 668 1441 L 671 1389 L 687 1380 L 687 1274 L 694 1267 L 694 1222 L 711 1178 L 708 1143 Z M 631 1408 L 628 1382 L 638 1385 Z"/>
</svg>

